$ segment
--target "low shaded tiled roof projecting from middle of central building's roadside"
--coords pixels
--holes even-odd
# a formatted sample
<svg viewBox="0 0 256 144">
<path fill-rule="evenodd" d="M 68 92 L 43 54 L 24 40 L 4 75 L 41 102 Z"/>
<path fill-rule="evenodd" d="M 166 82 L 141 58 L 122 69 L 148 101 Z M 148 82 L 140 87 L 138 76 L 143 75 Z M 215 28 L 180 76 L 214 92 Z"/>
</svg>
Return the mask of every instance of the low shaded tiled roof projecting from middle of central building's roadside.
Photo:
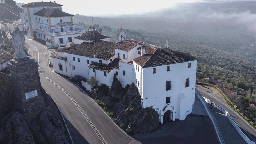
<svg viewBox="0 0 256 144">
<path fill-rule="evenodd" d="M 103 63 L 93 62 L 88 67 L 96 69 L 96 70 L 100 70 L 100 71 L 103 71 L 103 72 L 110 72 L 114 68 L 119 69 L 119 60 L 120 60 L 119 58 L 115 58 L 108 65 L 103 64 Z"/>
</svg>

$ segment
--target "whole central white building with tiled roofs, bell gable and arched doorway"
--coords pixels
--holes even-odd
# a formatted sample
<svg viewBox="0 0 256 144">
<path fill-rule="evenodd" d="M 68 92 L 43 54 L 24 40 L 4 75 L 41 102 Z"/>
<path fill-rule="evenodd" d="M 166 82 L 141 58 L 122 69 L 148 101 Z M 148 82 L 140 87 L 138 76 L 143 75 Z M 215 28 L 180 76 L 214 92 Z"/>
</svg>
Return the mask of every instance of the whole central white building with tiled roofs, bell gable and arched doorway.
<svg viewBox="0 0 256 144">
<path fill-rule="evenodd" d="M 125 87 L 135 83 L 142 107 L 152 106 L 163 123 L 184 120 L 192 111 L 195 97 L 197 59 L 189 54 L 125 40 L 118 31 L 118 41 L 110 42 L 95 29 L 74 38 L 74 43 L 54 52 L 54 72 L 69 77 L 95 77 L 111 87 L 114 74 Z"/>
</svg>

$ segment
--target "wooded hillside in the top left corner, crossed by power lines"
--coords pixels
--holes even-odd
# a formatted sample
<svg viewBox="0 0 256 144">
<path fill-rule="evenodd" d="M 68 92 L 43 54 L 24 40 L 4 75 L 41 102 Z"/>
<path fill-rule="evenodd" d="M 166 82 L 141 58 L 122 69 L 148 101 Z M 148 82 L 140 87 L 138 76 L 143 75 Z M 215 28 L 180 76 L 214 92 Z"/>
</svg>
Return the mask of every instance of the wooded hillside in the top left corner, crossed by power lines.
<svg viewBox="0 0 256 144">
<path fill-rule="evenodd" d="M 22 8 L 19 8 L 15 1 L 5 0 L 5 3 L 0 4 L 0 21 L 12 23 L 13 20 L 18 20 L 20 10 Z"/>
</svg>

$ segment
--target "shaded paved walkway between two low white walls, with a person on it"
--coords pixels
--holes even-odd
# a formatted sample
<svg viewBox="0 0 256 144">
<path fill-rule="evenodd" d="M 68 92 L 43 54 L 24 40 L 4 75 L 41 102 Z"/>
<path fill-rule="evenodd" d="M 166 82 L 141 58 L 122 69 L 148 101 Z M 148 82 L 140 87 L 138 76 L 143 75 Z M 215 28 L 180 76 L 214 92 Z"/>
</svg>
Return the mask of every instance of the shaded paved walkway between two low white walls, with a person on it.
<svg viewBox="0 0 256 144">
<path fill-rule="evenodd" d="M 219 111 L 214 106 L 212 107 L 211 112 L 218 123 L 225 144 L 246 144 L 223 112 Z"/>
</svg>

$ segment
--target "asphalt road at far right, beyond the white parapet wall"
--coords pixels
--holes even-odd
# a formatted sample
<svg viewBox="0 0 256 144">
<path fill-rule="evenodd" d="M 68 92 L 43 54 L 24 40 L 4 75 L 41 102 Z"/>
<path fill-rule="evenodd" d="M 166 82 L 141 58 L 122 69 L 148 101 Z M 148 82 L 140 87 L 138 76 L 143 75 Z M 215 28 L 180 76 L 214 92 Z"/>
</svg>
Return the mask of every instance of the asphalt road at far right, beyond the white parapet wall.
<svg viewBox="0 0 256 144">
<path fill-rule="evenodd" d="M 246 134 L 246 136 L 251 140 L 256 142 L 256 130 L 253 129 L 246 121 L 241 118 L 240 115 L 238 115 L 233 109 L 231 109 L 227 104 L 216 98 L 214 95 L 203 91 L 199 88 L 197 88 L 198 91 L 201 93 L 203 97 L 206 97 L 210 101 L 214 102 L 218 106 L 223 106 L 226 111 L 230 114 L 232 119 L 237 123 L 237 125 L 240 127 L 240 129 Z"/>
</svg>

